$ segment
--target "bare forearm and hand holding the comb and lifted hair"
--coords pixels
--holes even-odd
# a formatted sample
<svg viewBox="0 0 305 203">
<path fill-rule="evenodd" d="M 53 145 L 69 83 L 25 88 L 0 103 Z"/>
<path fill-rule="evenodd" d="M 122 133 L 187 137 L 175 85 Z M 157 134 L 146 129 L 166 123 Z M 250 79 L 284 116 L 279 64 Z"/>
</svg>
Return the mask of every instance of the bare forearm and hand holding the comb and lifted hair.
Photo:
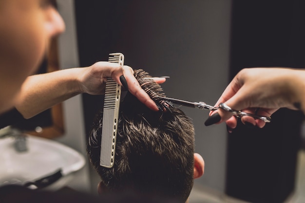
<svg viewBox="0 0 305 203">
<path fill-rule="evenodd" d="M 30 118 L 79 93 L 102 94 L 107 77 L 112 76 L 121 84 L 119 76 L 122 74 L 127 80 L 129 91 L 149 108 L 157 111 L 155 103 L 134 78 L 133 70 L 110 62 L 97 62 L 86 68 L 29 76 L 21 87 L 16 109 L 25 118 Z M 164 81 L 164 78 L 157 79 L 159 83 Z"/>
</svg>

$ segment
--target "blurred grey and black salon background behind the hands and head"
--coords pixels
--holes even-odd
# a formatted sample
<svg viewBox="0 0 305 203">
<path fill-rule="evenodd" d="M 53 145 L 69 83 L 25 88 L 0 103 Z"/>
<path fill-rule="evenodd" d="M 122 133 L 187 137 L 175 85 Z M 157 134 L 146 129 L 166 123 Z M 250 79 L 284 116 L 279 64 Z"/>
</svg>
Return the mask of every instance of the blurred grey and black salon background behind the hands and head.
<svg viewBox="0 0 305 203">
<path fill-rule="evenodd" d="M 57 0 L 66 22 L 58 38 L 61 69 L 125 55 L 125 65 L 170 76 L 167 96 L 213 105 L 229 81 L 248 67 L 305 67 L 303 0 Z M 85 146 L 103 96 L 78 95 L 62 107 L 56 140 L 86 156 Z M 205 127 L 208 111 L 181 107 L 193 120 L 205 174 L 193 203 L 304 203 L 303 114 L 276 112 L 264 129 L 239 123 Z M 69 186 L 96 194 L 89 164 Z"/>
</svg>

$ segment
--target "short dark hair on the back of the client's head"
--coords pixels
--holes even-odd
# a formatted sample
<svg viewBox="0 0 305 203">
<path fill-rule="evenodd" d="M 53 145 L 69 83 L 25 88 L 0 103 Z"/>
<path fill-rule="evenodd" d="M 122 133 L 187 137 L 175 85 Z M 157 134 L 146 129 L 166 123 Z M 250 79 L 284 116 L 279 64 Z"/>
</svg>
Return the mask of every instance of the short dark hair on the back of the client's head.
<svg viewBox="0 0 305 203">
<path fill-rule="evenodd" d="M 87 151 L 110 191 L 132 189 L 179 202 L 188 199 L 193 186 L 194 127 L 183 111 L 170 110 L 152 111 L 128 92 L 120 104 L 112 168 L 99 165 L 103 112 L 98 112 Z"/>
</svg>

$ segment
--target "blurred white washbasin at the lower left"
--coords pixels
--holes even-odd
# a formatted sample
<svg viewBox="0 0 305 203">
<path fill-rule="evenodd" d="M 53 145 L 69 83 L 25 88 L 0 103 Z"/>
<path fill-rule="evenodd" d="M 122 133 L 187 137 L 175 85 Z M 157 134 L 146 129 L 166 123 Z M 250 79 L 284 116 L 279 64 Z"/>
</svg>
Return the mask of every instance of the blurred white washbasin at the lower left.
<svg viewBox="0 0 305 203">
<path fill-rule="evenodd" d="M 85 158 L 76 150 L 56 141 L 26 136 L 27 151 L 14 148 L 14 137 L 0 139 L 0 186 L 24 185 L 61 169 L 63 177 L 85 165 Z"/>
</svg>

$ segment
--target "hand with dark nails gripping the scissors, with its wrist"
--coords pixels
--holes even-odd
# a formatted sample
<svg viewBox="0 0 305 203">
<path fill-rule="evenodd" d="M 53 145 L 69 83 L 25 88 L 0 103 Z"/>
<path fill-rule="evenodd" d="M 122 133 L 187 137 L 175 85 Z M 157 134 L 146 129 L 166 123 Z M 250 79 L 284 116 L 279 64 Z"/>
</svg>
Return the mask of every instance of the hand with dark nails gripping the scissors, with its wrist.
<svg viewBox="0 0 305 203">
<path fill-rule="evenodd" d="M 243 69 L 229 83 L 215 106 L 219 103 L 262 116 L 271 116 L 280 108 L 305 112 L 305 71 L 291 68 Z M 221 116 L 218 123 L 226 122 L 229 128 L 236 128 L 237 121 L 231 113 L 217 110 L 210 115 L 214 113 Z M 244 116 L 242 122 L 259 128 L 266 124 L 249 116 Z"/>
</svg>

